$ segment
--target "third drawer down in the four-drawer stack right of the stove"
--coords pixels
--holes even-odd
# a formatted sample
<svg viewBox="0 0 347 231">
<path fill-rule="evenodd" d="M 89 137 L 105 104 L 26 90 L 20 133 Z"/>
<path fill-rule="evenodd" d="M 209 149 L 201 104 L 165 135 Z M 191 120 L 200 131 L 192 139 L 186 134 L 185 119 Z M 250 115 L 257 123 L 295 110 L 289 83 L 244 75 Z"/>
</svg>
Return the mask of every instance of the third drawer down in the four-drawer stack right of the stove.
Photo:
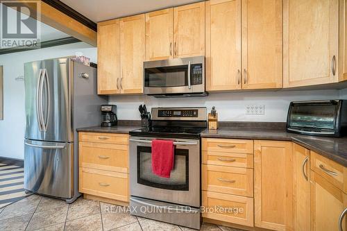
<svg viewBox="0 0 347 231">
<path fill-rule="evenodd" d="M 205 191 L 253 196 L 253 169 L 203 164 L 202 174 Z"/>
</svg>

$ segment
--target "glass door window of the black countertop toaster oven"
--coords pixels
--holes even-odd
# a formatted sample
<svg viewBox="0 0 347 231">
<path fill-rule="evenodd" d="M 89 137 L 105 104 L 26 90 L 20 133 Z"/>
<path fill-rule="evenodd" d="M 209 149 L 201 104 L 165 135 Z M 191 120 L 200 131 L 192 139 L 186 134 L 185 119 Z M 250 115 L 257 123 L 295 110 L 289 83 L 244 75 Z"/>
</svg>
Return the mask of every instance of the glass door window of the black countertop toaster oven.
<svg viewBox="0 0 347 231">
<path fill-rule="evenodd" d="M 335 128 L 337 105 L 296 105 L 292 108 L 290 125 L 309 128 Z"/>
</svg>

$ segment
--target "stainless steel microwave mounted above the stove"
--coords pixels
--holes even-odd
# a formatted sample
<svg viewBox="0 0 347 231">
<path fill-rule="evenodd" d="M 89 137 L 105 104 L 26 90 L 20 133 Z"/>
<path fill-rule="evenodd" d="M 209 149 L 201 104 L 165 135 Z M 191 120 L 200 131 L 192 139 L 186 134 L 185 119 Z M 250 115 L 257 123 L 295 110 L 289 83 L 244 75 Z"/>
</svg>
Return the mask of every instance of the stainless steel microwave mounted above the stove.
<svg viewBox="0 0 347 231">
<path fill-rule="evenodd" d="M 144 62 L 144 94 L 205 96 L 205 56 Z"/>
</svg>

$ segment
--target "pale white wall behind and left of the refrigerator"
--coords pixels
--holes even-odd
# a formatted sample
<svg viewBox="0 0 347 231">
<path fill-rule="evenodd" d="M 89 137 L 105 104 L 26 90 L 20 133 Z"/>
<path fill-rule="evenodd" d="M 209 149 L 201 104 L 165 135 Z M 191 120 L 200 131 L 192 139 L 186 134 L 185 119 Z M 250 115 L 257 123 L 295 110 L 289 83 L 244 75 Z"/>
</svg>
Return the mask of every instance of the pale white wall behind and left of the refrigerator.
<svg viewBox="0 0 347 231">
<path fill-rule="evenodd" d="M 0 55 L 3 65 L 3 121 L 0 120 L 0 156 L 24 158 L 24 82 L 16 81 L 24 76 L 24 62 L 75 55 L 76 51 L 96 62 L 96 48 L 78 42 L 63 46 Z"/>
</svg>

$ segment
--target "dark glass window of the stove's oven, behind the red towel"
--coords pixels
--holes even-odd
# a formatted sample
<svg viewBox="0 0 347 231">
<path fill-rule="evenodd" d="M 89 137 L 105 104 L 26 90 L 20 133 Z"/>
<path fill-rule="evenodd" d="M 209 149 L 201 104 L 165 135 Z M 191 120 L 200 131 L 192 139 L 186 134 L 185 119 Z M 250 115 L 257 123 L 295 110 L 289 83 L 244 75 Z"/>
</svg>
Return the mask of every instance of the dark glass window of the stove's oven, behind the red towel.
<svg viewBox="0 0 347 231">
<path fill-rule="evenodd" d="M 175 148 L 174 169 L 170 178 L 161 178 L 152 172 L 151 147 L 137 146 L 137 183 L 170 190 L 189 190 L 188 150 Z"/>
</svg>

